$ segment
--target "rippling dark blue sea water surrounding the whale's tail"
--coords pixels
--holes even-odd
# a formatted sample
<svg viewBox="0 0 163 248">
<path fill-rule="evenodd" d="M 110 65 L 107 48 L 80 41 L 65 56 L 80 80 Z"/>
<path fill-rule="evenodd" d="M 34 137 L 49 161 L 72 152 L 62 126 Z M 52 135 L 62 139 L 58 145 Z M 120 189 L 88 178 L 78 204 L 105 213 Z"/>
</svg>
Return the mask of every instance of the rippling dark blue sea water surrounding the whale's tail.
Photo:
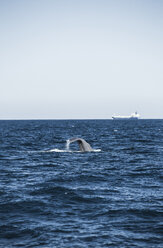
<svg viewBox="0 0 163 248">
<path fill-rule="evenodd" d="M 0 247 L 161 248 L 162 166 L 163 120 L 0 121 Z"/>
</svg>

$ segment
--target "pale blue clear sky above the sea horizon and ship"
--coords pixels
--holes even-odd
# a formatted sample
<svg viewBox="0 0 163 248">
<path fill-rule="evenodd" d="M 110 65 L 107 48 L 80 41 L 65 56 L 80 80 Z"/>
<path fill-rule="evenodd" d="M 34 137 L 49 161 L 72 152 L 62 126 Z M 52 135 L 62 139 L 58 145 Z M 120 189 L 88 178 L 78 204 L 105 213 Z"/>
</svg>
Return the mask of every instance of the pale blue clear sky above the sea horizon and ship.
<svg viewBox="0 0 163 248">
<path fill-rule="evenodd" d="M 0 119 L 163 119 L 162 0 L 0 0 Z"/>
</svg>

